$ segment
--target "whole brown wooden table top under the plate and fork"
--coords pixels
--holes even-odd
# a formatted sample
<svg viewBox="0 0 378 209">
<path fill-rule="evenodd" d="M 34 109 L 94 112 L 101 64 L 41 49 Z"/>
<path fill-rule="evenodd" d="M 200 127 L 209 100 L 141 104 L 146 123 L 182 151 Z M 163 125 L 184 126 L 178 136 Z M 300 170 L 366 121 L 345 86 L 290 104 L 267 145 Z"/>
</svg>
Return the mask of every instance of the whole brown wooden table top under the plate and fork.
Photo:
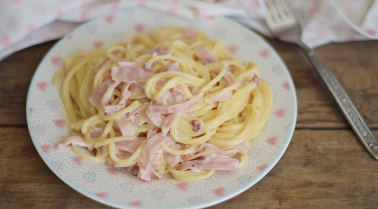
<svg viewBox="0 0 378 209">
<path fill-rule="evenodd" d="M 255 186 L 212 208 L 378 208 L 378 162 L 358 141 L 300 50 L 268 39 L 286 62 L 298 95 L 289 148 Z M 76 192 L 43 163 L 29 136 L 26 93 L 48 42 L 0 61 L 0 208 L 108 208 Z M 316 51 L 378 137 L 378 41 Z"/>
</svg>

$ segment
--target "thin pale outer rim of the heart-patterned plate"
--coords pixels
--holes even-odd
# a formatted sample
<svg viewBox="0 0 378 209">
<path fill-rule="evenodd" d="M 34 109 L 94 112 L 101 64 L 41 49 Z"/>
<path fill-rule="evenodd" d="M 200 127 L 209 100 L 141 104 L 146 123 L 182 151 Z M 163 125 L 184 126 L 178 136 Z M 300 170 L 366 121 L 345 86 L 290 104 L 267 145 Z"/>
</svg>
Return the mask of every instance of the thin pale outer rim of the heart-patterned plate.
<svg viewBox="0 0 378 209">
<path fill-rule="evenodd" d="M 149 9 L 141 8 L 141 7 L 133 7 L 133 8 L 127 8 L 127 9 L 123 9 L 123 10 L 120 10 L 118 12 L 115 12 L 114 15 L 123 13 L 125 11 L 139 10 L 139 9 L 149 10 Z M 161 12 L 158 12 L 158 13 L 161 13 Z M 165 14 L 165 13 L 162 13 L 162 14 Z M 83 28 L 83 27 L 87 26 L 88 24 L 90 24 L 90 23 L 92 23 L 94 21 L 97 21 L 97 20 L 99 20 L 101 18 L 103 18 L 103 17 L 100 16 L 100 17 L 95 18 L 93 20 L 90 20 L 90 21 L 88 21 L 86 23 L 83 23 L 80 26 L 78 26 L 77 28 L 75 28 L 74 30 L 72 30 L 70 33 L 66 34 L 64 37 L 61 37 L 56 43 L 54 43 L 53 46 L 51 46 L 51 48 L 48 49 L 48 51 L 45 53 L 45 55 L 39 61 L 38 66 L 36 67 L 36 69 L 35 69 L 35 71 L 33 73 L 32 79 L 30 80 L 30 84 L 29 84 L 29 88 L 28 88 L 28 92 L 27 92 L 27 98 L 26 98 L 26 121 L 27 121 L 28 130 L 29 130 L 29 134 L 30 134 L 31 140 L 32 140 L 33 145 L 34 145 L 35 149 L 37 150 L 39 156 L 42 158 L 43 162 L 47 165 L 47 167 L 55 174 L 55 176 L 57 176 L 60 180 L 62 180 L 65 184 L 67 184 L 68 186 L 70 186 L 72 189 L 76 190 L 77 192 L 83 194 L 84 196 L 86 196 L 86 197 L 88 197 L 88 198 L 90 198 L 92 200 L 95 200 L 97 202 L 100 202 L 102 204 L 109 205 L 109 206 L 112 206 L 112 207 L 126 208 L 126 209 L 128 209 L 128 208 L 140 208 L 140 209 L 156 209 L 156 208 L 164 209 L 164 208 L 172 208 L 172 207 L 132 206 L 132 205 L 127 205 L 127 204 L 121 204 L 119 202 L 115 202 L 115 201 L 112 201 L 112 200 L 109 200 L 109 199 L 101 198 L 99 196 L 96 196 L 95 194 L 89 193 L 88 191 L 82 189 L 80 186 L 77 186 L 75 183 L 73 183 L 72 181 L 70 181 L 69 179 L 67 179 L 65 176 L 59 174 L 53 168 L 53 166 L 51 165 L 51 163 L 48 161 L 47 157 L 44 156 L 43 151 L 41 150 L 41 148 L 39 147 L 37 141 L 35 140 L 36 136 L 34 135 L 34 132 L 32 130 L 32 125 L 31 125 L 31 121 L 30 121 L 30 114 L 28 114 L 29 113 L 28 110 L 30 108 L 30 97 L 31 97 L 30 95 L 31 95 L 31 91 L 33 89 L 33 85 L 36 83 L 36 74 L 37 74 L 37 72 L 40 71 L 42 62 L 47 59 L 47 57 L 48 57 L 48 55 L 50 55 L 51 51 L 53 51 L 53 49 L 55 47 L 57 47 L 62 41 L 64 41 L 67 38 L 67 36 L 69 36 L 69 35 L 77 32 L 81 28 Z M 175 18 L 180 18 L 180 17 L 175 17 Z M 230 193 L 226 193 L 222 197 L 213 198 L 213 199 L 211 199 L 209 201 L 200 202 L 200 203 L 197 203 L 197 204 L 178 206 L 178 207 L 174 207 L 174 208 L 179 208 L 179 209 L 195 209 L 195 208 L 209 207 L 209 206 L 218 204 L 220 202 L 226 201 L 228 199 L 231 199 L 231 198 L 235 197 L 236 195 L 238 195 L 238 194 L 244 192 L 245 190 L 249 189 L 253 185 L 255 185 L 257 182 L 259 182 L 261 179 L 263 179 L 273 169 L 274 166 L 276 166 L 276 164 L 278 163 L 278 161 L 282 158 L 283 154 L 286 152 L 286 150 L 287 150 L 287 148 L 288 148 L 288 146 L 289 146 L 289 144 L 290 144 L 290 142 L 292 140 L 293 133 L 294 133 L 294 130 L 295 130 L 296 121 L 297 121 L 297 114 L 298 114 L 298 104 L 297 103 L 298 103 L 298 101 L 297 101 L 297 94 L 296 94 L 296 89 L 295 89 L 294 81 L 293 81 L 293 78 L 292 78 L 292 76 L 290 74 L 290 71 L 289 71 L 288 67 L 286 66 L 285 62 L 283 61 L 283 59 L 281 58 L 281 56 L 279 55 L 279 53 L 275 50 L 275 48 L 268 41 L 266 41 L 259 33 L 257 33 L 256 31 L 253 31 L 253 30 L 251 30 L 251 29 L 249 29 L 249 28 L 247 28 L 247 27 L 245 27 L 243 25 L 241 25 L 240 23 L 238 23 L 238 22 L 236 22 L 236 21 L 234 21 L 234 20 L 232 20 L 230 18 L 227 18 L 227 17 L 215 17 L 215 19 L 220 19 L 222 21 L 232 22 L 232 24 L 235 25 L 235 27 L 239 27 L 239 28 L 243 28 L 244 30 L 247 30 L 248 33 L 249 33 L 249 35 L 251 35 L 251 34 L 255 35 L 260 42 L 262 42 L 266 47 L 268 47 L 270 50 L 272 50 L 274 52 L 274 56 L 279 61 L 279 64 L 281 66 L 283 66 L 283 68 L 284 68 L 284 74 L 288 77 L 288 84 L 289 84 L 289 88 L 290 88 L 290 94 L 292 94 L 292 104 L 293 104 L 293 107 L 292 107 L 292 109 L 293 109 L 292 117 L 293 117 L 293 120 L 290 121 L 290 125 L 288 127 L 288 135 L 285 138 L 285 143 L 283 144 L 282 149 L 278 153 L 277 157 L 273 161 L 271 161 L 269 163 L 268 167 L 266 169 L 264 169 L 264 171 L 262 171 L 261 173 L 259 173 L 257 175 L 257 177 L 254 178 L 255 180 L 252 180 L 252 181 L 248 182 L 247 184 L 238 187 L 236 190 L 234 190 L 234 191 L 232 191 Z M 190 20 L 190 21 L 193 22 L 193 23 L 196 23 L 198 21 L 198 19 L 194 19 L 194 20 Z"/>
</svg>

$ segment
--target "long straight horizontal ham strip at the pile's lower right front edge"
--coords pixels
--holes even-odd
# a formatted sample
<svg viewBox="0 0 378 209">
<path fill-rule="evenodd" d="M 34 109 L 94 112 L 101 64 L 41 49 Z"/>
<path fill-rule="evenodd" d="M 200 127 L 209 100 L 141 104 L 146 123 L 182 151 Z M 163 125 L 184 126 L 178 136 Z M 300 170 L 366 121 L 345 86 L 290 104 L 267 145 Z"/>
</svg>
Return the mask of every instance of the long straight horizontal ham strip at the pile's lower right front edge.
<svg viewBox="0 0 378 209">
<path fill-rule="evenodd" d="M 180 164 L 180 170 L 214 169 L 232 171 L 239 170 L 240 163 L 234 158 L 208 158 L 202 160 L 184 161 Z"/>
</svg>

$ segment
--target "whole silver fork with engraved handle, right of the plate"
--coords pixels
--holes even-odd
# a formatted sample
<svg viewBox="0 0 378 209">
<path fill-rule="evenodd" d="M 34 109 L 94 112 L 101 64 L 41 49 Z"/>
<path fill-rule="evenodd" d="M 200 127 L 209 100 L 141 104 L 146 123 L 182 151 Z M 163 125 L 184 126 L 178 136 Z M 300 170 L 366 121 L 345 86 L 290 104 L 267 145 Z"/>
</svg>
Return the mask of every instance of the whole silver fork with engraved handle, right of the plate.
<svg viewBox="0 0 378 209">
<path fill-rule="evenodd" d="M 302 49 L 313 68 L 316 69 L 320 78 L 331 92 L 362 145 L 374 160 L 378 161 L 378 142 L 332 72 L 324 65 L 318 55 L 301 41 L 302 30 L 286 1 L 266 0 L 265 3 L 265 22 L 272 35 L 281 41 L 295 43 Z"/>
</svg>

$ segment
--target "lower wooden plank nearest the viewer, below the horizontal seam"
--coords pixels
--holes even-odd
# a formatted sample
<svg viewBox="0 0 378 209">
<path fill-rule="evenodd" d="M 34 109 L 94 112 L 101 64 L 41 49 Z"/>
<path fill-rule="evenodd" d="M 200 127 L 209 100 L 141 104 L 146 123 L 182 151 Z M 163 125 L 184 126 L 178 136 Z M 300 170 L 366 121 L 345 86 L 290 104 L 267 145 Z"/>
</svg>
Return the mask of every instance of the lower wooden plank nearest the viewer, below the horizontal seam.
<svg viewBox="0 0 378 209">
<path fill-rule="evenodd" d="M 0 128 L 0 144 L 0 208 L 108 208 L 59 180 L 27 128 Z M 296 130 L 266 177 L 211 208 L 377 208 L 376 188 L 378 164 L 351 130 Z"/>
</svg>

